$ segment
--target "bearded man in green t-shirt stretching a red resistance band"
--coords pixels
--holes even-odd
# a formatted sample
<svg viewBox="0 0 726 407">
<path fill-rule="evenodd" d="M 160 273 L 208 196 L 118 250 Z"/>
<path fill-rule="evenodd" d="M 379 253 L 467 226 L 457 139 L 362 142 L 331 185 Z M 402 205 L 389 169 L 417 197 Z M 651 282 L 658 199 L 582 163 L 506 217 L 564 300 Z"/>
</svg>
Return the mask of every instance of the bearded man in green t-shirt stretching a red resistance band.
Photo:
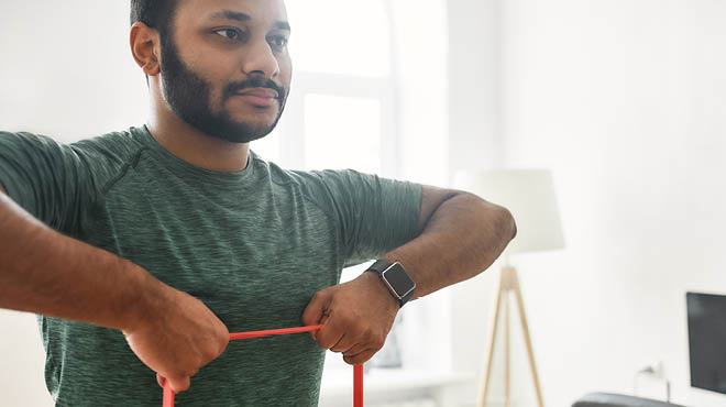
<svg viewBox="0 0 726 407">
<path fill-rule="evenodd" d="M 57 406 L 158 406 L 155 382 L 184 392 L 197 373 L 178 406 L 315 406 L 323 350 L 364 363 L 407 299 L 479 274 L 514 237 L 470 194 L 249 150 L 290 85 L 282 0 L 131 11 L 144 127 L 72 145 L 0 133 L 0 307 L 42 316 Z M 228 346 L 230 331 L 319 323 Z"/>
</svg>

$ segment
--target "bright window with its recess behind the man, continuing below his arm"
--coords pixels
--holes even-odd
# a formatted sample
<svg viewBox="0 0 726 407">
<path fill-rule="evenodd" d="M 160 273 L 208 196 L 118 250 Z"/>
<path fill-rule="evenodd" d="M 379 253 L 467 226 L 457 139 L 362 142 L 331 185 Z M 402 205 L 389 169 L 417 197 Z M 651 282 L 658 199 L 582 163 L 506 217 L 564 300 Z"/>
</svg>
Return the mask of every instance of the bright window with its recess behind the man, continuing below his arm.
<svg viewBox="0 0 726 407">
<path fill-rule="evenodd" d="M 286 168 L 355 168 L 447 183 L 447 36 L 443 0 L 287 0 L 293 84 L 275 132 L 252 150 Z M 367 265 L 343 271 L 350 280 Z M 397 322 L 404 363 L 450 366 L 447 293 L 416 301 Z M 386 346 L 387 348 L 387 346 Z M 329 353 L 326 371 L 350 370 Z M 406 359 L 408 358 L 408 359 Z M 411 363 L 408 363 L 411 362 Z"/>
</svg>

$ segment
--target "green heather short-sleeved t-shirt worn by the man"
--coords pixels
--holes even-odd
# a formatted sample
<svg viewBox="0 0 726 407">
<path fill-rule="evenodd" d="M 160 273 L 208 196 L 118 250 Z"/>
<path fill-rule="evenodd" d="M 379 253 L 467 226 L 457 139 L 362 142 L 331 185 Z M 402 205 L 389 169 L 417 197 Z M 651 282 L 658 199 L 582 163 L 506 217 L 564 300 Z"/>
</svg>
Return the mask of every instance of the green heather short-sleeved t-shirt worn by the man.
<svg viewBox="0 0 726 407">
<path fill-rule="evenodd" d="M 145 128 L 67 145 L 0 132 L 0 183 L 50 227 L 199 298 L 231 332 L 300 326 L 343 266 L 417 235 L 421 204 L 416 184 L 286 170 L 254 153 L 239 173 L 206 170 Z M 56 406 L 162 405 L 154 373 L 120 331 L 38 321 Z M 307 333 L 230 342 L 176 406 L 317 406 L 323 354 Z"/>
</svg>

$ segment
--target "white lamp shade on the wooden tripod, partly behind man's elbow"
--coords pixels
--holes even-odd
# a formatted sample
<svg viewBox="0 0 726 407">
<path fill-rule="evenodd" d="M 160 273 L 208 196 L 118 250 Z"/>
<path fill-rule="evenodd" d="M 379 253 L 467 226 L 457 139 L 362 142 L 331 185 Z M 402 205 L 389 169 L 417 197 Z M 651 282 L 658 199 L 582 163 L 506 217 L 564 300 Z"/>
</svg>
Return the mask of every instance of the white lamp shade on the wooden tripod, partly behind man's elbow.
<svg viewBox="0 0 726 407">
<path fill-rule="evenodd" d="M 509 209 L 517 222 L 517 237 L 507 252 L 564 248 L 552 175 L 548 169 L 463 170 L 457 173 L 454 187 Z"/>
</svg>

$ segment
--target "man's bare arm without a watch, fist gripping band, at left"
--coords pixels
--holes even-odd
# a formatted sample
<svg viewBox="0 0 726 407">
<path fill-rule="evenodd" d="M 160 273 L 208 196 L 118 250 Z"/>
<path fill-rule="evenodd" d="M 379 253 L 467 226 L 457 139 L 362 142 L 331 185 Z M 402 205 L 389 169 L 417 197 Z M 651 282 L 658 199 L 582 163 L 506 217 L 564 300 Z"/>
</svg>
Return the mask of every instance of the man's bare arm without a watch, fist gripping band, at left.
<svg viewBox="0 0 726 407">
<path fill-rule="evenodd" d="M 47 228 L 1 185 L 0 243 L 0 308 L 120 329 L 177 392 L 227 346 L 227 328 L 201 301 Z"/>
</svg>

